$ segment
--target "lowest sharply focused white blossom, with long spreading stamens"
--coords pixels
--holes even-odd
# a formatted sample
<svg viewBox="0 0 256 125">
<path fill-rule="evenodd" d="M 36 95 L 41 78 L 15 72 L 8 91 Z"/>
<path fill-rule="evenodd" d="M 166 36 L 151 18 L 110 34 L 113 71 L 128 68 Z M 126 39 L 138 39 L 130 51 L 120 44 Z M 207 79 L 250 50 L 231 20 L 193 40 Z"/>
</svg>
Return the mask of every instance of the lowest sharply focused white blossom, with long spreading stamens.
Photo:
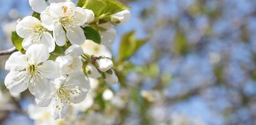
<svg viewBox="0 0 256 125">
<path fill-rule="evenodd" d="M 36 99 L 39 106 L 51 104 L 51 116 L 64 118 L 71 103 L 81 103 L 90 89 L 90 83 L 83 73 L 63 75 L 51 81 L 51 96 Z"/>
</svg>

